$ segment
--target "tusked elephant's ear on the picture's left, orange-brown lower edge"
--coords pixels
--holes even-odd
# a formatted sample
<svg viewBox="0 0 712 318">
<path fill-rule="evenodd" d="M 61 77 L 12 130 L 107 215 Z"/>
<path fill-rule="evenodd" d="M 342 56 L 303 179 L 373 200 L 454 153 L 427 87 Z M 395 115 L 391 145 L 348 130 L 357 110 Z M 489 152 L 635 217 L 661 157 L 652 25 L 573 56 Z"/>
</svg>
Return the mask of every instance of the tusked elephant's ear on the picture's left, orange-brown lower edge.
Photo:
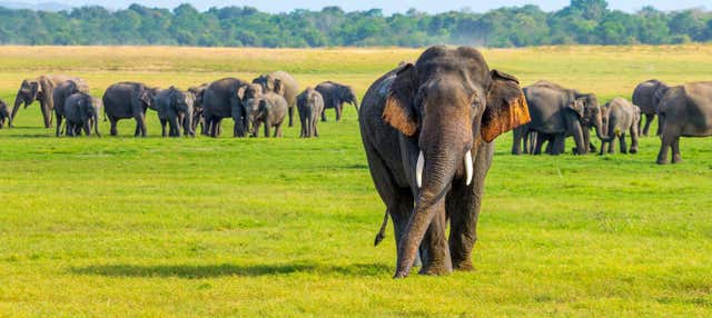
<svg viewBox="0 0 712 318">
<path fill-rule="evenodd" d="M 396 72 L 395 80 L 390 83 L 386 106 L 383 110 L 383 120 L 408 137 L 415 136 L 418 130 L 413 98 L 416 86 L 415 66 L 412 63 L 402 66 Z"/>
</svg>

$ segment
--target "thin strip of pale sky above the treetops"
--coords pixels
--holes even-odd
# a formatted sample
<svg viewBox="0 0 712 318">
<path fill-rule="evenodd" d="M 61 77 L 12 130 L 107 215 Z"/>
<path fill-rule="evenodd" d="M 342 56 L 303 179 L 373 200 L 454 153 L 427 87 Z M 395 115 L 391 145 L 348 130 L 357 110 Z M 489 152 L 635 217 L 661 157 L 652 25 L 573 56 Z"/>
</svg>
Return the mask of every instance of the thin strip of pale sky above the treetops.
<svg viewBox="0 0 712 318">
<path fill-rule="evenodd" d="M 0 3 L 3 1 L 0 1 Z M 283 0 L 283 1 L 269 1 L 269 0 L 238 0 L 238 1 L 227 1 L 227 0 L 206 0 L 206 1 L 195 1 L 195 0 L 159 0 L 159 1 L 137 1 L 137 0 L 14 0 L 10 2 L 26 2 L 31 4 L 43 3 L 43 2 L 59 2 L 67 6 L 83 6 L 87 3 L 90 4 L 100 4 L 110 9 L 122 9 L 128 7 L 131 3 L 141 3 L 147 7 L 162 7 L 162 8 L 175 8 L 180 3 L 191 3 L 194 7 L 204 11 L 210 7 L 227 7 L 227 6 L 249 6 L 259 9 L 260 11 L 266 12 L 288 12 L 294 9 L 310 9 L 310 10 L 320 10 L 327 6 L 339 6 L 346 11 L 355 11 L 355 10 L 368 10 L 373 8 L 383 9 L 386 14 L 390 14 L 394 12 L 404 12 L 409 8 L 415 8 L 418 11 L 425 11 L 429 13 L 437 13 L 449 10 L 459 10 L 463 8 L 468 8 L 474 12 L 484 12 L 490 9 L 495 9 L 505 6 L 523 6 L 527 3 L 538 4 L 545 11 L 554 11 L 558 10 L 565 6 L 567 6 L 570 0 L 544 0 L 544 1 L 531 1 L 531 0 L 490 0 L 490 1 L 477 1 L 477 0 L 390 0 L 390 1 L 376 1 L 376 0 Z M 705 2 L 708 3 L 706 6 Z M 689 8 L 699 8 L 706 7 L 706 9 L 712 9 L 712 4 L 710 1 L 700 1 L 700 0 L 627 0 L 627 1 L 614 1 L 609 0 L 609 7 L 611 9 L 624 10 L 627 12 L 634 12 L 644 6 L 653 6 L 660 10 L 679 10 L 679 9 L 689 9 Z"/>
</svg>

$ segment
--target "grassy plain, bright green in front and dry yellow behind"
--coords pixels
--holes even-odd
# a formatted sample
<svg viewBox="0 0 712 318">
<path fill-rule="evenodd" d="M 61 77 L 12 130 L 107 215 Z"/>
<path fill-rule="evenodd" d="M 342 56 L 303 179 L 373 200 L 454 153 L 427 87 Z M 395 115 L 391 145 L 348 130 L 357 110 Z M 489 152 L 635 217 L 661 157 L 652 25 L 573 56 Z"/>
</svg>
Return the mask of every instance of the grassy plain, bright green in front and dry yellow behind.
<svg viewBox="0 0 712 318">
<path fill-rule="evenodd" d="M 100 96 L 116 81 L 187 88 L 287 70 L 303 87 L 362 96 L 421 50 L 0 48 L 0 96 L 70 73 Z M 712 46 L 485 50 L 524 85 L 550 79 L 630 98 L 650 78 L 712 78 Z M 501 137 L 479 219 L 476 271 L 390 279 L 393 230 L 356 112 L 323 137 L 53 138 L 36 105 L 0 130 L 0 316 L 710 316 L 712 138 L 684 162 L 635 156 L 514 157 Z M 230 122 L 230 120 L 228 120 Z M 231 130 L 231 123 L 225 128 Z M 651 129 L 655 131 L 654 128 Z M 229 135 L 229 133 L 227 133 Z M 568 142 L 571 148 L 572 141 Z"/>
</svg>

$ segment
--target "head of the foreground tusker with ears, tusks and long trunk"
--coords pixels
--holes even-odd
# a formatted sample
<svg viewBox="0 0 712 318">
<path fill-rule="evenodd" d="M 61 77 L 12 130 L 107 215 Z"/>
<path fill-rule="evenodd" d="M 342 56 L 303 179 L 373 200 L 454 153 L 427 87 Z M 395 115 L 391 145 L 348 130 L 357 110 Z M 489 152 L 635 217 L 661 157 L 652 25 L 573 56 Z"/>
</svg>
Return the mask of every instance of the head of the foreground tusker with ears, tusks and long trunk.
<svg viewBox="0 0 712 318">
<path fill-rule="evenodd" d="M 395 277 L 402 278 L 453 183 L 473 187 L 472 153 L 531 118 L 518 80 L 491 71 L 479 51 L 466 47 L 433 47 L 400 67 L 383 118 L 419 148 L 416 206 L 398 245 Z"/>
</svg>

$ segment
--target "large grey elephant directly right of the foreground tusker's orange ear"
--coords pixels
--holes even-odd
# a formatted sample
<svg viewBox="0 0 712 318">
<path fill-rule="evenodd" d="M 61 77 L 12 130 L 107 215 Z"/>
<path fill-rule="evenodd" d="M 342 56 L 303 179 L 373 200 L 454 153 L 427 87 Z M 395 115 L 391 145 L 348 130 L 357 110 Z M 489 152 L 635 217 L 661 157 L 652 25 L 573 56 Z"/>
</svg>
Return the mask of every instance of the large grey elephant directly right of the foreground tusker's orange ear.
<svg viewBox="0 0 712 318">
<path fill-rule="evenodd" d="M 536 131 L 534 155 L 542 153 L 544 141 L 550 141 L 548 153 L 561 155 L 565 151 L 565 139 L 574 137 L 575 155 L 595 151 L 591 143 L 590 130 L 595 128 L 599 139 L 607 139 L 603 135 L 601 108 L 594 93 L 581 93 L 565 89 L 548 81 L 538 81 L 524 88 L 532 122 L 522 129 Z M 516 131 L 515 137 L 526 136 Z M 585 146 L 584 146 L 585 145 Z M 512 153 L 521 153 L 521 139 L 514 139 Z"/>
</svg>

